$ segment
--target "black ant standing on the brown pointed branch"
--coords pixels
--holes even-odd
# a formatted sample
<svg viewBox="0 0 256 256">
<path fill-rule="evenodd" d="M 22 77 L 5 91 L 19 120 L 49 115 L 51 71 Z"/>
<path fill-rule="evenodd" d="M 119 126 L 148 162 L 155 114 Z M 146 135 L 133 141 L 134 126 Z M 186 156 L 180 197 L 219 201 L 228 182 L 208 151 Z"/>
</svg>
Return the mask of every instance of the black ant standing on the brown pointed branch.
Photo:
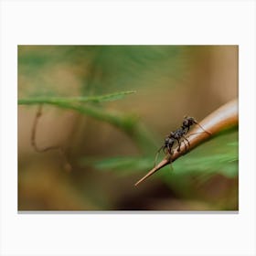
<svg viewBox="0 0 256 256">
<path fill-rule="evenodd" d="M 178 148 L 177 151 L 180 151 L 180 146 L 181 143 L 183 142 L 185 145 L 185 149 L 187 150 L 187 144 L 188 146 L 190 146 L 189 141 L 187 140 L 187 138 L 185 137 L 185 135 L 188 133 L 190 127 L 194 124 L 197 124 L 205 133 L 211 134 L 208 131 L 206 131 L 197 121 L 194 117 L 184 117 L 183 123 L 181 125 L 180 128 L 178 128 L 176 131 L 171 132 L 168 136 L 165 137 L 165 144 L 162 145 L 156 155 L 155 155 L 155 162 L 157 159 L 158 154 L 160 153 L 161 150 L 163 150 L 163 152 L 166 154 L 165 150 L 167 150 L 167 152 L 169 153 L 170 156 L 172 156 L 174 154 L 173 151 L 173 146 L 175 145 L 175 143 L 177 142 L 178 144 Z M 180 139 L 183 139 L 182 142 L 180 142 Z M 185 144 L 185 141 L 187 141 L 187 144 Z"/>
</svg>

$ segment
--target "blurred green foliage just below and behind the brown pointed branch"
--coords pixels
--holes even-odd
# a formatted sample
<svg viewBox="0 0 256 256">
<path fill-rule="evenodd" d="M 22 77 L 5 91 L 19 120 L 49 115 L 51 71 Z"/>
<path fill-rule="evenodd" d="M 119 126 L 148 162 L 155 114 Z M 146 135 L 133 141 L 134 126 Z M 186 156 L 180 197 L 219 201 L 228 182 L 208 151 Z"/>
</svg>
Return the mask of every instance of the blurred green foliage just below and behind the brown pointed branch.
<svg viewBox="0 0 256 256">
<path fill-rule="evenodd" d="M 234 130 L 234 129 L 232 129 Z M 238 132 L 230 130 L 229 133 L 216 136 L 214 139 L 193 149 L 188 155 L 181 157 L 173 167 L 172 174 L 167 173 L 163 178 L 168 181 L 171 176 L 212 176 L 220 174 L 227 177 L 238 176 Z M 227 143 L 232 142 L 232 143 Z M 118 175 L 129 175 L 131 173 L 143 173 L 150 170 L 154 164 L 154 155 L 142 156 L 119 156 L 106 159 L 90 159 L 84 157 L 82 165 L 93 165 L 95 168 L 106 171 L 116 171 Z M 165 166 L 165 169 L 169 169 Z M 161 172 L 161 171 L 159 171 Z M 171 184 L 172 185 L 172 184 Z"/>
</svg>

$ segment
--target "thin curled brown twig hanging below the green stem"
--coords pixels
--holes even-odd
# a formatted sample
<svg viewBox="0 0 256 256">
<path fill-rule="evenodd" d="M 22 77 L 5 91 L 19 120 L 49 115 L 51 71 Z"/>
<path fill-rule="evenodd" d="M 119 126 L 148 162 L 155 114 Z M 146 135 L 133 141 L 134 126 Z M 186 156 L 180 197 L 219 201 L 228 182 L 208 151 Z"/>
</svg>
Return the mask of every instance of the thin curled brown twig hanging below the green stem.
<svg viewBox="0 0 256 256">
<path fill-rule="evenodd" d="M 37 146 L 37 140 L 36 140 L 36 135 L 37 135 L 37 124 L 39 121 L 39 118 L 42 115 L 42 109 L 43 109 L 43 104 L 40 104 L 38 106 L 37 109 L 37 113 L 34 119 L 34 123 L 32 126 L 32 131 L 31 131 L 31 145 L 34 148 L 35 151 L 37 151 L 38 153 L 44 153 L 47 152 L 49 150 L 57 150 L 59 152 L 59 155 L 61 155 L 61 157 L 63 158 L 63 162 L 64 162 L 64 168 L 67 171 L 71 171 L 72 170 L 72 166 L 69 164 L 69 160 L 67 157 L 67 154 L 64 150 L 64 148 L 60 145 L 54 145 L 54 146 L 47 146 L 47 147 L 43 147 L 43 148 L 39 148 Z"/>
</svg>

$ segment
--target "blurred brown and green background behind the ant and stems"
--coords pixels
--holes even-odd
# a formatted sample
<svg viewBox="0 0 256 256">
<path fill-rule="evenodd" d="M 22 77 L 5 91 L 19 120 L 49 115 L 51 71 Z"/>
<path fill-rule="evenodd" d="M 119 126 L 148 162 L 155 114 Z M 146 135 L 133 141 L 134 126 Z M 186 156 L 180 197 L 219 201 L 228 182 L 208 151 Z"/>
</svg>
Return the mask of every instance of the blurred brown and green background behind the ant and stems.
<svg viewBox="0 0 256 256">
<path fill-rule="evenodd" d="M 238 46 L 19 46 L 19 99 L 136 93 L 91 103 L 101 112 L 98 118 L 44 105 L 37 144 L 65 147 L 71 171 L 63 167 L 58 151 L 33 150 L 37 104 L 19 105 L 18 209 L 238 209 L 238 161 L 232 166 L 219 165 L 218 159 L 218 165 L 197 163 L 211 170 L 208 176 L 197 165 L 195 171 L 193 166 L 185 171 L 182 163 L 174 163 L 173 173 L 165 167 L 133 187 L 154 165 L 165 135 L 180 126 L 184 115 L 200 121 L 238 97 L 238 51 Z M 107 112 L 131 115 L 139 128 L 127 133 L 104 121 Z M 237 140 L 238 131 L 233 131 L 186 157 L 218 155 Z M 238 154 L 238 144 L 234 152 Z M 126 164 L 117 156 L 127 157 Z"/>
</svg>

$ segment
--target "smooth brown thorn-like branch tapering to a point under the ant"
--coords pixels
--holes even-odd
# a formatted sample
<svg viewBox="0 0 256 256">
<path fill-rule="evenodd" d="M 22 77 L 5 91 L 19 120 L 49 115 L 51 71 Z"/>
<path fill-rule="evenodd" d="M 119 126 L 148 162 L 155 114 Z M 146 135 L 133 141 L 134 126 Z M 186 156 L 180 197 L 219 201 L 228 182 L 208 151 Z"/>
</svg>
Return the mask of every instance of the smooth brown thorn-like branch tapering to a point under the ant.
<svg viewBox="0 0 256 256">
<path fill-rule="evenodd" d="M 238 100 L 229 101 L 228 103 L 221 106 L 215 112 L 210 113 L 204 120 L 199 124 L 206 130 L 208 133 L 202 132 L 201 128 L 196 125 L 195 128 L 187 134 L 187 139 L 189 141 L 189 150 L 186 150 L 185 144 L 182 144 L 180 151 L 177 151 L 177 148 L 174 151 L 174 154 L 170 158 L 170 155 L 166 156 L 158 165 L 156 165 L 151 171 L 149 171 L 144 177 L 135 183 L 134 186 L 139 185 L 149 176 L 155 174 L 156 171 L 163 168 L 165 165 L 170 164 L 171 162 L 176 161 L 182 155 L 186 155 L 190 150 L 197 147 L 197 145 L 204 143 L 207 139 L 213 135 L 220 133 L 226 129 L 229 129 L 232 126 L 236 126 L 239 123 L 239 112 L 238 112 Z M 211 133 L 211 134 L 209 134 Z"/>
</svg>

